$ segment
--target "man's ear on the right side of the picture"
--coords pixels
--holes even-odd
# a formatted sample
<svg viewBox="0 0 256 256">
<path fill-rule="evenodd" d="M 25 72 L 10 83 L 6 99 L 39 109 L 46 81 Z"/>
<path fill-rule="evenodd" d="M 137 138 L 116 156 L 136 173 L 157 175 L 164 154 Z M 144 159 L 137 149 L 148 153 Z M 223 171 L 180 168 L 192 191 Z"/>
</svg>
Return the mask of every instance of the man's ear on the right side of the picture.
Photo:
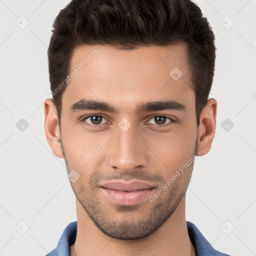
<svg viewBox="0 0 256 256">
<path fill-rule="evenodd" d="M 211 148 L 216 130 L 216 114 L 217 101 L 215 98 L 209 98 L 200 114 L 200 123 L 197 132 L 197 150 L 200 152 L 198 155 L 208 153 Z"/>
</svg>

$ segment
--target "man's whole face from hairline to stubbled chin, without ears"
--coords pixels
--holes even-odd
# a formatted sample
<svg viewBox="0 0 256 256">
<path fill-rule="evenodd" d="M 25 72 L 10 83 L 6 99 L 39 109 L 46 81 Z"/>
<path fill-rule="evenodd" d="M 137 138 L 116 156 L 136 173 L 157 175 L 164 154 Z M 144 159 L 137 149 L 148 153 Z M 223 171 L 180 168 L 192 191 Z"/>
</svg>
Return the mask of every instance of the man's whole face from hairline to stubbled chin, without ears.
<svg viewBox="0 0 256 256">
<path fill-rule="evenodd" d="M 183 42 L 73 52 L 77 73 L 62 95 L 61 148 L 77 200 L 110 237 L 151 234 L 186 192 L 197 147 L 186 56 Z"/>
</svg>

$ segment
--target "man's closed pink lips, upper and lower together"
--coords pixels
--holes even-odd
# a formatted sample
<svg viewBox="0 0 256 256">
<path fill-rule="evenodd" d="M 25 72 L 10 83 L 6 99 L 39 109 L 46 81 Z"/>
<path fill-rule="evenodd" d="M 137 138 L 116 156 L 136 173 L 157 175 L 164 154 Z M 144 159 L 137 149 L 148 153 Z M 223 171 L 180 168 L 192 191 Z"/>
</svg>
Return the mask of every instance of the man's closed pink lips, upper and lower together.
<svg viewBox="0 0 256 256">
<path fill-rule="evenodd" d="M 102 192 L 115 204 L 135 205 L 141 203 L 154 189 L 154 185 L 140 181 L 112 181 L 101 185 Z"/>
</svg>

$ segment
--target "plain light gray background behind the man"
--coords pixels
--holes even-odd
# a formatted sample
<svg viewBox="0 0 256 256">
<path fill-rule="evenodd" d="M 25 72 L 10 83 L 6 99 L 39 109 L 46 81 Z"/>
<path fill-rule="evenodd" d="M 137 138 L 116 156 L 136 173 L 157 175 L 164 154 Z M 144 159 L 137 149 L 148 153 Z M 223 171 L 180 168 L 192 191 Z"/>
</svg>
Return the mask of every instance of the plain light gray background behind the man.
<svg viewBox="0 0 256 256">
<path fill-rule="evenodd" d="M 45 255 L 76 220 L 64 160 L 52 154 L 43 128 L 50 30 L 68 2 L 0 0 L 0 255 Z M 216 249 L 251 256 L 256 254 L 256 0 L 197 4 L 216 35 L 210 97 L 217 99 L 218 115 L 212 148 L 194 164 L 186 219 Z M 226 15 L 234 21 L 229 29 Z M 29 125 L 23 131 L 16 127 L 21 118 Z M 228 131 L 221 126 L 226 118 L 234 124 Z M 24 234 L 20 221 L 29 226 Z"/>
</svg>

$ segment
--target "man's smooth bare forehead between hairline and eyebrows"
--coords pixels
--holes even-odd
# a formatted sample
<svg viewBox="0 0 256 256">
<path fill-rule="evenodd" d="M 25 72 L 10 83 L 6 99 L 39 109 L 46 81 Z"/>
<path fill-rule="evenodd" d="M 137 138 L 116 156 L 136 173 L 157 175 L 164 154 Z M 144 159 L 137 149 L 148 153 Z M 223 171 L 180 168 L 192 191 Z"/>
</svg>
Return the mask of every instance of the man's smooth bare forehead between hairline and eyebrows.
<svg viewBox="0 0 256 256">
<path fill-rule="evenodd" d="M 62 100 L 69 106 L 83 97 L 111 101 L 113 105 L 118 100 L 123 106 L 161 97 L 184 102 L 194 96 L 187 60 L 184 42 L 132 50 L 78 46 L 70 63 L 75 75 L 68 82 Z"/>
</svg>

